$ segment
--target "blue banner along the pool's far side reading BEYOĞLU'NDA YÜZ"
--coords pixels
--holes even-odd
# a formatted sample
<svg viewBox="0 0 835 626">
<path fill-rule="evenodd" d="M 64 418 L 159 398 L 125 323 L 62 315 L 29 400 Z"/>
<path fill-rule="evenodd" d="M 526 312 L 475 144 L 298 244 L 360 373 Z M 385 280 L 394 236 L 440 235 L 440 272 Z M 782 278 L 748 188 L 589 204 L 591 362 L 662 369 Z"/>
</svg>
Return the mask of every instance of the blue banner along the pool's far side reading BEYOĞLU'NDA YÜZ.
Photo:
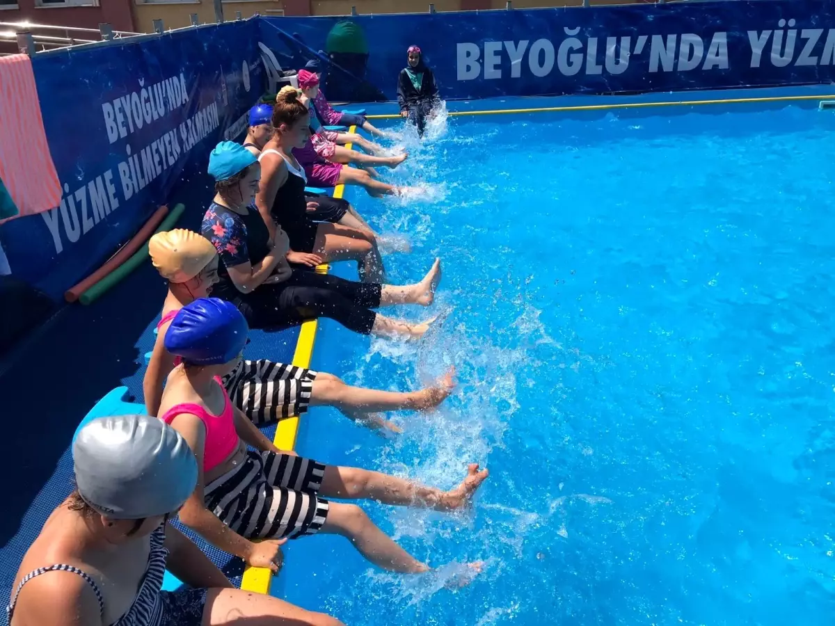
<svg viewBox="0 0 835 626">
<path fill-rule="evenodd" d="M 261 40 L 300 68 L 331 60 L 327 98 L 392 100 L 416 44 L 447 99 L 829 83 L 830 0 L 263 18 Z"/>
</svg>

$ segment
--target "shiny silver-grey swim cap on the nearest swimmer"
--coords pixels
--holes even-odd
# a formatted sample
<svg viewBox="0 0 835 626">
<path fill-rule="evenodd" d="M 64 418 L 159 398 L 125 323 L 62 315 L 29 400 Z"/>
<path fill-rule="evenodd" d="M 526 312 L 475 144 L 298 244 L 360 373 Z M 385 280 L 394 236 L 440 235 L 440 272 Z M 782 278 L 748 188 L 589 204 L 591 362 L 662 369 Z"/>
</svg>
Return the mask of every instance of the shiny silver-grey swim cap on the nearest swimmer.
<svg viewBox="0 0 835 626">
<path fill-rule="evenodd" d="M 78 493 L 113 519 L 175 512 L 195 490 L 197 460 L 174 428 L 156 417 L 89 422 L 73 442 Z"/>
</svg>

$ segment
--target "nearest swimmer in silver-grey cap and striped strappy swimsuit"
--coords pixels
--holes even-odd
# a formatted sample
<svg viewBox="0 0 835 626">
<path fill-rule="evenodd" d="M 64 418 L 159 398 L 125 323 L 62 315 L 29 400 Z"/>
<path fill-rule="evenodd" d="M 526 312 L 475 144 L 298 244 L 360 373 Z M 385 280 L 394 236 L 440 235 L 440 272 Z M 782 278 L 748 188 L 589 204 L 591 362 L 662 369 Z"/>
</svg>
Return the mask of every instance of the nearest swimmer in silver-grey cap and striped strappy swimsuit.
<svg viewBox="0 0 835 626">
<path fill-rule="evenodd" d="M 76 488 L 23 557 L 10 626 L 342 626 L 236 589 L 169 523 L 194 492 L 195 455 L 155 417 L 99 417 L 73 442 Z M 277 560 L 277 559 L 276 559 Z M 185 585 L 162 591 L 165 569 Z"/>
</svg>

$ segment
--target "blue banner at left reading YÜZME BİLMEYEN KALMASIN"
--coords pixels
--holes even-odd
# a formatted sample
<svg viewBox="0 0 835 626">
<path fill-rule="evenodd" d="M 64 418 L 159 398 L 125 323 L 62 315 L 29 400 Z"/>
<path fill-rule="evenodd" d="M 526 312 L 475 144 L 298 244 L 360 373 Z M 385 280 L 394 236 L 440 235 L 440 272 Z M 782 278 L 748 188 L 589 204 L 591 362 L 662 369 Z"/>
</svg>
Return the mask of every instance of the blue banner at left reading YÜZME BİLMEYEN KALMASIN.
<svg viewBox="0 0 835 626">
<path fill-rule="evenodd" d="M 13 275 L 53 298 L 129 240 L 263 93 L 257 20 L 38 54 L 63 198 L 0 226 Z M 196 207 L 195 207 L 196 209 Z"/>
</svg>

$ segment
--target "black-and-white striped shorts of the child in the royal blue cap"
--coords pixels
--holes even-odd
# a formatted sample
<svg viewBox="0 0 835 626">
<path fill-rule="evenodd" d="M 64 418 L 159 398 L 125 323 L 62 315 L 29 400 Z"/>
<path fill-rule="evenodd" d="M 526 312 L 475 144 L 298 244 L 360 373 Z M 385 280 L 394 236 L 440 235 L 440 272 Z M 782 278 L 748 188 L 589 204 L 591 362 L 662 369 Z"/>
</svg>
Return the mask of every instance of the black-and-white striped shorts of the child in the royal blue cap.
<svg viewBox="0 0 835 626">
<path fill-rule="evenodd" d="M 247 452 L 246 461 L 205 487 L 206 508 L 248 539 L 295 539 L 318 532 L 327 500 L 318 497 L 325 466 L 276 452 Z"/>
</svg>

